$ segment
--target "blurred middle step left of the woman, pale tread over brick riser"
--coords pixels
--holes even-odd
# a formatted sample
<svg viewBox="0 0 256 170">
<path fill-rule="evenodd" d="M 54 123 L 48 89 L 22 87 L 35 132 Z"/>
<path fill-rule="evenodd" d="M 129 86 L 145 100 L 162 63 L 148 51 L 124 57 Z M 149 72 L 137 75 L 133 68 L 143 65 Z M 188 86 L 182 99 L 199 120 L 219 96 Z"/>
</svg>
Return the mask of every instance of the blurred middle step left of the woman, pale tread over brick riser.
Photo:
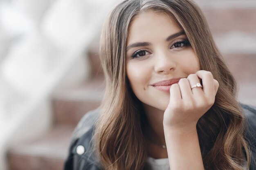
<svg viewBox="0 0 256 170">
<path fill-rule="evenodd" d="M 52 99 L 55 124 L 76 126 L 85 113 L 100 106 L 104 88 L 104 79 L 98 77 L 76 87 L 56 90 Z"/>
</svg>

